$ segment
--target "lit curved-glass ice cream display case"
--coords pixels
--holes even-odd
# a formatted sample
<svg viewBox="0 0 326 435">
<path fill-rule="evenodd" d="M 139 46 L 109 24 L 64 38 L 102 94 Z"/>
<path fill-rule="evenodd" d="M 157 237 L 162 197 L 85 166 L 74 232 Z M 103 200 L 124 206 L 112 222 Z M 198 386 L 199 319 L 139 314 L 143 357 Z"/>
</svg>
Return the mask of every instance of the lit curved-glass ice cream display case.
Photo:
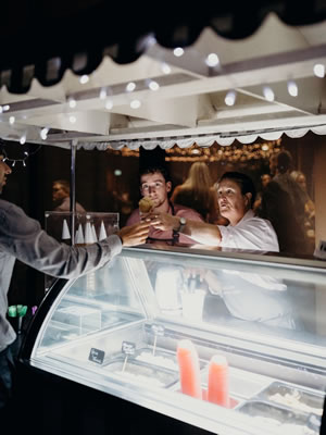
<svg viewBox="0 0 326 435">
<path fill-rule="evenodd" d="M 129 248 L 58 288 L 29 366 L 222 435 L 319 433 L 325 262 Z"/>
</svg>

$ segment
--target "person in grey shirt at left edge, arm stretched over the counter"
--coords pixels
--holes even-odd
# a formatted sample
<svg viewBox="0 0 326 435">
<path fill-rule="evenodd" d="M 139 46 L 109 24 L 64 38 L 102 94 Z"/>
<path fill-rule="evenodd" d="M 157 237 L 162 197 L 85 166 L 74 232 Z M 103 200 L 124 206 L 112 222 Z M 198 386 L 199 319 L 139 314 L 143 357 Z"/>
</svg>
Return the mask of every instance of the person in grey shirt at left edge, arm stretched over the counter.
<svg viewBox="0 0 326 435">
<path fill-rule="evenodd" d="M 11 172 L 0 144 L 0 194 Z M 121 252 L 122 246 L 143 244 L 148 232 L 149 223 L 142 222 L 87 247 L 73 247 L 59 243 L 21 208 L 0 199 L 0 420 L 9 414 L 14 377 L 11 345 L 16 334 L 7 311 L 15 260 L 54 277 L 76 278 L 101 268 Z"/>
</svg>

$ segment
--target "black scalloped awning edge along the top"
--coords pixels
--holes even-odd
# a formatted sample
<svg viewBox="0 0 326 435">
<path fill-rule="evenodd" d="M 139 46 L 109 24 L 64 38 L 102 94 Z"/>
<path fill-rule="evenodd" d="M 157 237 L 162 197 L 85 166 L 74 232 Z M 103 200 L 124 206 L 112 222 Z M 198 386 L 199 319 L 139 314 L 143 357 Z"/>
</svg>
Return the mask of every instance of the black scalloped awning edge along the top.
<svg viewBox="0 0 326 435">
<path fill-rule="evenodd" d="M 90 74 L 105 54 L 117 63 L 134 62 L 148 36 L 166 48 L 188 47 L 205 27 L 225 38 L 246 38 L 271 12 L 294 26 L 326 18 L 326 0 L 174 3 L 2 0 L 0 86 L 23 94 L 33 77 L 51 86 L 67 69 Z"/>
</svg>

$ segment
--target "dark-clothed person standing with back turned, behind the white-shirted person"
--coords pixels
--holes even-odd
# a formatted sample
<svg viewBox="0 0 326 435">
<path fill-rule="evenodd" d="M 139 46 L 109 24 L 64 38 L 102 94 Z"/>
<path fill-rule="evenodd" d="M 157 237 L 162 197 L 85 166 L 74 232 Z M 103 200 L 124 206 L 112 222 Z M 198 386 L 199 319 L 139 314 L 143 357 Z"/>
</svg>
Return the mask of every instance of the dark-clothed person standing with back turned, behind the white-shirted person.
<svg viewBox="0 0 326 435">
<path fill-rule="evenodd" d="M 273 179 L 263 191 L 260 216 L 267 219 L 276 231 L 281 252 L 309 253 L 304 228 L 305 195 L 291 177 L 292 157 L 280 151 L 269 159 Z"/>
</svg>

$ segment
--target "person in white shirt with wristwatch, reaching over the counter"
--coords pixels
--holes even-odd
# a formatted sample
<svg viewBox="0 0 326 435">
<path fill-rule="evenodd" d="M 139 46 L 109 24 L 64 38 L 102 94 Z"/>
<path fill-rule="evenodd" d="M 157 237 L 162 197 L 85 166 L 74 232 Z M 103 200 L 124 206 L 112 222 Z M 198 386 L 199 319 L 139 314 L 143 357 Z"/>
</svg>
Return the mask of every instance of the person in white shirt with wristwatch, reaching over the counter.
<svg viewBox="0 0 326 435">
<path fill-rule="evenodd" d="M 214 225 L 187 219 L 183 225 L 183 234 L 209 246 L 261 251 L 279 250 L 272 224 L 253 213 L 255 188 L 248 175 L 226 172 L 218 181 L 217 197 L 221 214 L 229 221 L 229 224 Z M 178 216 L 155 211 L 149 219 L 156 229 L 180 231 Z"/>
</svg>

